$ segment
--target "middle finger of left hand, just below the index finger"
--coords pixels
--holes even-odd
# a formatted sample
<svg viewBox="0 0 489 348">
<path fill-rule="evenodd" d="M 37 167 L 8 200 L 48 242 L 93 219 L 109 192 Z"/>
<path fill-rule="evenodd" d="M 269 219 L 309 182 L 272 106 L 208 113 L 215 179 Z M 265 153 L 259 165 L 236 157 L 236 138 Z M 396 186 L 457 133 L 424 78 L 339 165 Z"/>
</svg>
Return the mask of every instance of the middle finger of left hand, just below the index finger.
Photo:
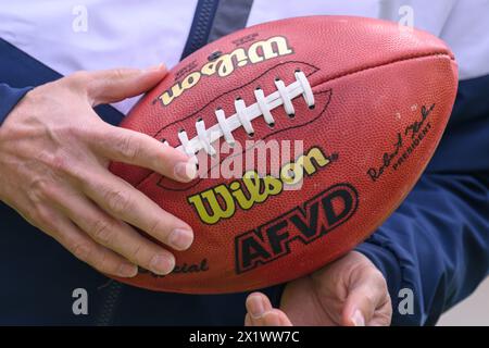
<svg viewBox="0 0 489 348">
<path fill-rule="evenodd" d="M 188 224 L 161 209 L 122 178 L 103 170 L 91 175 L 84 183 L 84 191 L 110 215 L 142 229 L 173 249 L 190 247 L 193 232 Z"/>
</svg>

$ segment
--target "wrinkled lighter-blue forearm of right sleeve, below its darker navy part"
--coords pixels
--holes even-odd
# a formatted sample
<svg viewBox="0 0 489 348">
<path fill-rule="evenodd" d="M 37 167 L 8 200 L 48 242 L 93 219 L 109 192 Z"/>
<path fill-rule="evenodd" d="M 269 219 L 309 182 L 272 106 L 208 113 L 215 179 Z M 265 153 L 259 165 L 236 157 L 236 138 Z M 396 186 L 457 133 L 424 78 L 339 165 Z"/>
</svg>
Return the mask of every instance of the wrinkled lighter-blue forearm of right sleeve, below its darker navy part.
<svg viewBox="0 0 489 348">
<path fill-rule="evenodd" d="M 403 204 L 358 250 L 386 276 L 392 324 L 432 325 L 467 297 L 489 270 L 489 179 L 427 174 Z M 414 311 L 398 310 L 413 291 Z"/>
</svg>

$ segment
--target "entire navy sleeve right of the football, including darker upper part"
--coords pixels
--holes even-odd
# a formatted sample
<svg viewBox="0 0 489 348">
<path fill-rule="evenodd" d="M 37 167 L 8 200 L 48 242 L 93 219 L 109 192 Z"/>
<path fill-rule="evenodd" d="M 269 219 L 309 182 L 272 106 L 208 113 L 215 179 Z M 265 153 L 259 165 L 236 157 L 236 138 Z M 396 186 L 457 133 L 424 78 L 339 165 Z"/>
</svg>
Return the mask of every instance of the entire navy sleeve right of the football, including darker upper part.
<svg viewBox="0 0 489 348">
<path fill-rule="evenodd" d="M 393 325 L 434 325 L 489 274 L 488 95 L 489 76 L 461 82 L 427 171 L 356 248 L 387 279 Z M 403 288 L 413 291 L 412 314 L 399 311 Z"/>
</svg>

